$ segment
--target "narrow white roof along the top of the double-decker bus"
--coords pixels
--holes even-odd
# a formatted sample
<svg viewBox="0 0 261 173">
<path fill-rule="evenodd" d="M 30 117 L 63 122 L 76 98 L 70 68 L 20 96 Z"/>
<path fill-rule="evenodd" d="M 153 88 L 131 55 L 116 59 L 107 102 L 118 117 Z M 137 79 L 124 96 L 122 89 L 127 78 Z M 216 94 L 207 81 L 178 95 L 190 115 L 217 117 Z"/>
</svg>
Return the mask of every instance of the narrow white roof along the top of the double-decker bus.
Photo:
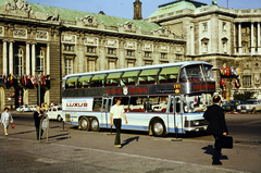
<svg viewBox="0 0 261 173">
<path fill-rule="evenodd" d="M 135 66 L 135 67 L 127 67 L 127 69 L 115 69 L 115 70 L 97 71 L 97 72 L 75 73 L 75 74 L 70 74 L 70 75 L 64 76 L 63 79 L 66 79 L 69 77 L 83 76 L 83 75 L 114 73 L 114 72 L 115 73 L 116 72 L 128 72 L 128 71 L 136 71 L 136 70 L 147 70 L 147 69 L 167 67 L 167 66 L 181 66 L 181 67 L 184 67 L 184 66 L 192 65 L 192 64 L 211 65 L 210 63 L 208 63 L 206 61 L 181 61 L 181 62 L 157 64 L 157 65 L 145 65 L 145 66 Z"/>
</svg>

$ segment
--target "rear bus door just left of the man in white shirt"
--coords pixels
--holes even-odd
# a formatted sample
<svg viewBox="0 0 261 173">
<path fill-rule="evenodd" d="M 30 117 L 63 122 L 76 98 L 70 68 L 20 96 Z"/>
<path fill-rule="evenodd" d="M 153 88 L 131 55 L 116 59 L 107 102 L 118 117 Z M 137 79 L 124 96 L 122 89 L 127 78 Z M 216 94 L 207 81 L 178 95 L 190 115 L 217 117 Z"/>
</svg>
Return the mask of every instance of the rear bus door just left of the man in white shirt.
<svg viewBox="0 0 261 173">
<path fill-rule="evenodd" d="M 113 97 L 103 97 L 101 102 L 101 127 L 110 127 L 110 111 L 113 103 Z"/>
</svg>

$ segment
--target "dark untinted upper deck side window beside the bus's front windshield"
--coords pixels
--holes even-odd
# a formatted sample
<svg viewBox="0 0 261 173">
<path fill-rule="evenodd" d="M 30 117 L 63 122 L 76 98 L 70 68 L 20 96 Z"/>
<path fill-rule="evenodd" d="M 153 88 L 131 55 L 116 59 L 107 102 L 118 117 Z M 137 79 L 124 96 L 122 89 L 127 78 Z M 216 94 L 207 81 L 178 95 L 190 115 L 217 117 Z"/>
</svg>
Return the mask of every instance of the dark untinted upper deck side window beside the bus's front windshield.
<svg viewBox="0 0 261 173">
<path fill-rule="evenodd" d="M 181 71 L 181 82 L 201 82 L 203 81 L 201 65 L 189 65 Z"/>
</svg>

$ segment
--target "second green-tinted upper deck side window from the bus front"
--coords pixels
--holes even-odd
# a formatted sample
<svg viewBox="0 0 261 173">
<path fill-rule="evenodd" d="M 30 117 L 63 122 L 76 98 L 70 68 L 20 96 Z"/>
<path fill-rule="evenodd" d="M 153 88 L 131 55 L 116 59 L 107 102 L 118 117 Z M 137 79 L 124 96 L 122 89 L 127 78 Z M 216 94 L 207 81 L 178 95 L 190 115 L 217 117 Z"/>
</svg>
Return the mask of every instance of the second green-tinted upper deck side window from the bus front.
<svg viewBox="0 0 261 173">
<path fill-rule="evenodd" d="M 138 77 L 138 84 L 154 84 L 159 69 L 144 70 Z"/>
</svg>

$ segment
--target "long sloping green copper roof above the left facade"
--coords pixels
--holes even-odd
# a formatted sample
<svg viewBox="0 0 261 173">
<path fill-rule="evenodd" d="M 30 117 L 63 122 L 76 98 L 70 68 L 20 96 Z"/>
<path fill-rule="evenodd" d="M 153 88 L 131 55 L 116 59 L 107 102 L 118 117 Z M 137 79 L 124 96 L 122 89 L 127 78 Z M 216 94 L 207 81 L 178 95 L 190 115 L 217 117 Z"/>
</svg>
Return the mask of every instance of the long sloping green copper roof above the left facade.
<svg viewBox="0 0 261 173">
<path fill-rule="evenodd" d="M 4 4 L 5 1 L 7 0 L 0 0 L 0 5 Z M 9 1 L 12 1 L 12 0 L 9 0 Z M 103 22 L 103 24 L 107 26 L 117 26 L 117 24 L 122 25 L 126 22 L 133 22 L 137 27 L 140 27 L 141 30 L 146 30 L 146 32 L 154 30 L 160 27 L 160 25 L 156 23 L 150 23 L 150 22 L 136 21 L 136 20 L 129 20 L 129 18 L 116 17 L 116 16 L 110 16 L 110 15 L 102 15 L 102 14 L 89 13 L 84 11 L 44 5 L 38 3 L 30 3 L 30 2 L 27 2 L 27 3 L 32 5 L 32 9 L 35 12 L 44 12 L 44 13 L 48 13 L 49 15 L 54 15 L 54 12 L 57 9 L 61 20 L 76 21 L 76 17 L 80 20 L 87 15 L 92 15 L 100 23 Z"/>
</svg>

